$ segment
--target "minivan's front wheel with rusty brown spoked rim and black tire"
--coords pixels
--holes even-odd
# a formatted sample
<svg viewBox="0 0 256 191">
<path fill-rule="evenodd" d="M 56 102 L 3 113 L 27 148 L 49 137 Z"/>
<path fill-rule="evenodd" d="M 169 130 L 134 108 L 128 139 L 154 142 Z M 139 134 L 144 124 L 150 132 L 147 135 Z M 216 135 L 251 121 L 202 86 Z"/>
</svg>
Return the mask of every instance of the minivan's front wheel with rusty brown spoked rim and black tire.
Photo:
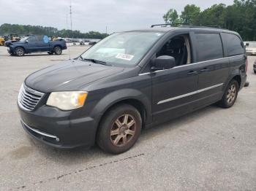
<svg viewBox="0 0 256 191">
<path fill-rule="evenodd" d="M 141 126 L 140 113 L 134 106 L 115 106 L 99 124 L 97 144 L 105 152 L 112 154 L 126 152 L 138 140 Z"/>
</svg>

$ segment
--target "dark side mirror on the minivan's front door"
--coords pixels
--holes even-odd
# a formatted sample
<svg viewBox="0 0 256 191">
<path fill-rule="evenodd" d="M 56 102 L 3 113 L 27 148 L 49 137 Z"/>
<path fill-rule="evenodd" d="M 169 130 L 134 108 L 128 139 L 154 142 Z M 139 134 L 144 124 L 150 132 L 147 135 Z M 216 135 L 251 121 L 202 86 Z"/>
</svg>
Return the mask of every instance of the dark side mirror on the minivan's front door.
<svg viewBox="0 0 256 191">
<path fill-rule="evenodd" d="M 175 58 L 170 55 L 160 55 L 155 59 L 151 71 L 172 69 L 174 66 L 176 66 Z"/>
</svg>

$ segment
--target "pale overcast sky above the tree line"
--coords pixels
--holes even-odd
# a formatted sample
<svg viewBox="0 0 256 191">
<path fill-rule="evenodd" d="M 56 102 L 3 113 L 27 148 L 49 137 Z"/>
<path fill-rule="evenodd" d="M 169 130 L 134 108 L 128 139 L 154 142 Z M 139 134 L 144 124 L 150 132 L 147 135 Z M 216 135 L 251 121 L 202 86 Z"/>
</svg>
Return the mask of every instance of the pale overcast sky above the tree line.
<svg viewBox="0 0 256 191">
<path fill-rule="evenodd" d="M 151 24 L 164 23 L 162 15 L 173 8 L 178 12 L 187 4 L 201 9 L 212 4 L 233 4 L 233 0 L 72 0 L 73 29 L 82 32 L 108 33 L 135 28 L 147 28 Z M 70 0 L 0 0 L 0 25 L 2 23 L 53 26 L 70 28 Z"/>
</svg>

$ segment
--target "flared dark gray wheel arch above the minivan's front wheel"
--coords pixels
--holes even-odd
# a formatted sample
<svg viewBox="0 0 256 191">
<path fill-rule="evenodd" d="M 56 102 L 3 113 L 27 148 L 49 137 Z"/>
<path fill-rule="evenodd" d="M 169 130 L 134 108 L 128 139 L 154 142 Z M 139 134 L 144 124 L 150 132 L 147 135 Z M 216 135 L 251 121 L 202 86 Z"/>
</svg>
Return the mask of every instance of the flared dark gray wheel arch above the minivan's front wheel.
<svg viewBox="0 0 256 191">
<path fill-rule="evenodd" d="M 110 106 L 113 106 L 114 104 L 125 101 L 128 99 L 133 99 L 136 101 L 140 101 L 141 104 L 143 104 L 144 108 L 146 109 L 146 115 L 148 116 L 149 120 L 151 119 L 151 100 L 149 100 L 148 96 L 144 93 L 140 92 L 139 90 L 135 89 L 122 89 L 122 90 L 116 90 L 111 93 L 108 93 L 108 95 L 105 95 L 96 106 L 94 106 L 94 109 L 92 111 L 92 116 L 94 118 L 97 118 L 97 121 L 99 122 L 100 118 L 103 114 L 110 108 Z"/>
</svg>

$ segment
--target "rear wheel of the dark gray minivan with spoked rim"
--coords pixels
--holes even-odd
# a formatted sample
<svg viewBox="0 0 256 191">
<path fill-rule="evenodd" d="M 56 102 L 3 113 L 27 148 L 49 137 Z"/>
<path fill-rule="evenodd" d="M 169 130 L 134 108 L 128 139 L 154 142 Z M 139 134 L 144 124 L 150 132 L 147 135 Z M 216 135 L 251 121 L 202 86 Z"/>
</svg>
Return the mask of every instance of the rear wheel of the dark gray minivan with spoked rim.
<svg viewBox="0 0 256 191">
<path fill-rule="evenodd" d="M 230 108 L 235 104 L 238 95 L 239 85 L 235 79 L 232 79 L 225 90 L 222 100 L 219 101 L 219 106 L 223 108 Z"/>
</svg>

